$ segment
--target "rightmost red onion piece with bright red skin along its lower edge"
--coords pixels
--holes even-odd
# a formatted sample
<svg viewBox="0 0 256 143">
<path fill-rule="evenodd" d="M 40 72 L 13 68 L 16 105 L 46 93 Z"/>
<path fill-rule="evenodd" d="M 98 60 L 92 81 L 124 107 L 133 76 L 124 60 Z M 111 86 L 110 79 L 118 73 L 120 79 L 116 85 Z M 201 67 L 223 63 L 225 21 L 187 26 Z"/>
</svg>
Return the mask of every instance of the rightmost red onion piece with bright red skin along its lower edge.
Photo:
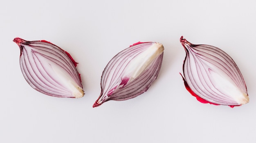
<svg viewBox="0 0 256 143">
<path fill-rule="evenodd" d="M 186 57 L 184 85 L 202 103 L 240 106 L 249 102 L 244 78 L 234 60 L 211 45 L 194 45 L 180 38 Z"/>
</svg>

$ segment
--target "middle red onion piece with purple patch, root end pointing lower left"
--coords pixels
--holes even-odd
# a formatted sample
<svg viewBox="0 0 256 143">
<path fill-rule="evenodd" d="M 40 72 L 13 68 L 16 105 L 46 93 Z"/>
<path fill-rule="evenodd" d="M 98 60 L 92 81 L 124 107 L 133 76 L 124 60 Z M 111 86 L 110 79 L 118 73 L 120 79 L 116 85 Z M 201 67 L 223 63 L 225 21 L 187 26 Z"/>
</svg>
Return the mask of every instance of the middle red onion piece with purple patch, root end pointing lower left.
<svg viewBox="0 0 256 143">
<path fill-rule="evenodd" d="M 135 43 L 119 52 L 101 76 L 101 94 L 93 107 L 108 100 L 128 100 L 148 90 L 157 78 L 164 54 L 160 43 Z"/>
</svg>

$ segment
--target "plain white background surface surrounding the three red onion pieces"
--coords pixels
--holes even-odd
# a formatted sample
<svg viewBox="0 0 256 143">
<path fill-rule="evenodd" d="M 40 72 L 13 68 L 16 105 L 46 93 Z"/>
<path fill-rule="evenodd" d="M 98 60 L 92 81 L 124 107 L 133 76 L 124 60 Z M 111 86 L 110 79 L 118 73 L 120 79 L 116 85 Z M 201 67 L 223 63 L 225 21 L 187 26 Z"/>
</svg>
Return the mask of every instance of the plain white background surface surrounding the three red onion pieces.
<svg viewBox="0 0 256 143">
<path fill-rule="evenodd" d="M 1 143 L 255 143 L 255 0 L 5 0 L 0 4 Z M 215 106 L 186 91 L 180 37 L 221 48 L 242 72 L 250 102 Z M 22 76 L 12 40 L 47 40 L 69 52 L 83 98 L 54 98 Z M 138 41 L 164 45 L 147 92 L 92 104 L 108 61 Z"/>
</svg>

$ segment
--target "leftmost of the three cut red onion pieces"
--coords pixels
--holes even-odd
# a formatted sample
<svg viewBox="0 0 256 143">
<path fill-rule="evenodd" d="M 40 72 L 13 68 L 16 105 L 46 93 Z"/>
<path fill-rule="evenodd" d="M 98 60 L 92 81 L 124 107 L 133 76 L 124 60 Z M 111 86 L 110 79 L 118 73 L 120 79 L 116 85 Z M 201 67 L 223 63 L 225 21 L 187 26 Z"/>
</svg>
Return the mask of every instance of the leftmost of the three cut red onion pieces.
<svg viewBox="0 0 256 143">
<path fill-rule="evenodd" d="M 20 47 L 20 69 L 29 85 L 46 95 L 81 98 L 84 95 L 76 62 L 58 46 L 41 40 L 15 38 Z"/>
</svg>

